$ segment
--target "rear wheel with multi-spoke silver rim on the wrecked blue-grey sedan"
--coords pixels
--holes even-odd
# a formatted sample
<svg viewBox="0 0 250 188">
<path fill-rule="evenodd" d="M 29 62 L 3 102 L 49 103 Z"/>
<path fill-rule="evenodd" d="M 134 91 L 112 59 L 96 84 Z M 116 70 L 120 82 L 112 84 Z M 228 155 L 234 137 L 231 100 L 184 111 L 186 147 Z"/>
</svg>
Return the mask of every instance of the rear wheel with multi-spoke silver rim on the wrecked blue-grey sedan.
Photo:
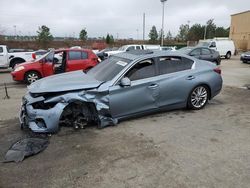
<svg viewBox="0 0 250 188">
<path fill-rule="evenodd" d="M 193 110 L 200 110 L 206 106 L 209 98 L 209 89 L 200 85 L 195 87 L 188 97 L 188 108 Z"/>
</svg>

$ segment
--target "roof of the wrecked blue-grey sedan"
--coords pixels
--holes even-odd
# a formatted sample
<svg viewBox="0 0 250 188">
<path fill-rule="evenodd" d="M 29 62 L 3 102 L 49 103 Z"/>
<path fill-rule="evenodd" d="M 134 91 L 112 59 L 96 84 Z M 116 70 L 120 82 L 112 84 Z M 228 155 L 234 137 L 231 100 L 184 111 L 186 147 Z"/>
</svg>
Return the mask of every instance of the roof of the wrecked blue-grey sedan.
<svg viewBox="0 0 250 188">
<path fill-rule="evenodd" d="M 194 60 L 192 57 L 178 51 L 162 51 L 162 50 L 131 50 L 129 52 L 118 53 L 112 56 L 129 59 L 131 61 L 142 58 L 154 58 L 159 56 L 182 56 Z"/>
</svg>

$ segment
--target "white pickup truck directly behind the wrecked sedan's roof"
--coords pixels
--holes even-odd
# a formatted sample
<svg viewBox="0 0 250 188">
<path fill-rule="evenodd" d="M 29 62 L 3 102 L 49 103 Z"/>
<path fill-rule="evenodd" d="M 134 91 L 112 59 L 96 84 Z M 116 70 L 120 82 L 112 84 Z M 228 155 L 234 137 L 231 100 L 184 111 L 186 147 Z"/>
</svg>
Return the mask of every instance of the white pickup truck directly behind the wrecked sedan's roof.
<svg viewBox="0 0 250 188">
<path fill-rule="evenodd" d="M 120 47 L 118 50 L 108 51 L 104 53 L 105 57 L 109 57 L 110 55 L 133 51 L 133 50 L 160 50 L 160 45 L 150 45 L 150 44 L 129 44 Z"/>
</svg>

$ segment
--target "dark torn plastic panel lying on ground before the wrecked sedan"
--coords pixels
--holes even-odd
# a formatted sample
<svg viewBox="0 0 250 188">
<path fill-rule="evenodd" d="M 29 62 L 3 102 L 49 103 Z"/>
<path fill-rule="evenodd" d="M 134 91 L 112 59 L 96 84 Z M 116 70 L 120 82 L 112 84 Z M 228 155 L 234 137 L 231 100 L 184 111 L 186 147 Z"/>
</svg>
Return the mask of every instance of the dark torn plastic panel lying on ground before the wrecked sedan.
<svg viewBox="0 0 250 188">
<path fill-rule="evenodd" d="M 21 162 L 25 157 L 36 155 L 49 145 L 46 138 L 24 138 L 13 144 L 5 155 L 3 162 Z"/>
</svg>

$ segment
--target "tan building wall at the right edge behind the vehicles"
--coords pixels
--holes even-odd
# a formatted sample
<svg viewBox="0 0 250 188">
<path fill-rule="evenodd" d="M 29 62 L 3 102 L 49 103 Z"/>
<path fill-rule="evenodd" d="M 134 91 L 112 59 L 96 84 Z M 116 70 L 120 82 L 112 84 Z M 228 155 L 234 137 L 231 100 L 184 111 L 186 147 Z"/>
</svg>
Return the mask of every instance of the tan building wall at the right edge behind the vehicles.
<svg viewBox="0 0 250 188">
<path fill-rule="evenodd" d="M 231 15 L 229 37 L 238 50 L 250 50 L 250 10 Z"/>
</svg>

